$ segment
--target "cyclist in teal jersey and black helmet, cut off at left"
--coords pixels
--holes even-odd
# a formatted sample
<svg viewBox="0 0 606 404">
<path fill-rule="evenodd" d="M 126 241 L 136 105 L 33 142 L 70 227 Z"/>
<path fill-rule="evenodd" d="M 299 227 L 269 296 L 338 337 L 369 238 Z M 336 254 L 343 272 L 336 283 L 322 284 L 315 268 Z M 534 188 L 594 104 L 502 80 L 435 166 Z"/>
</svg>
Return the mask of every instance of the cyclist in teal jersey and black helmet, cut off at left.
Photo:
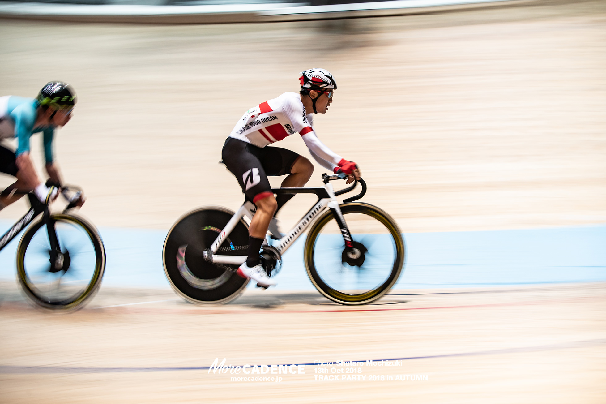
<svg viewBox="0 0 606 404">
<path fill-rule="evenodd" d="M 61 175 L 53 161 L 53 137 L 56 127 L 70 121 L 76 104 L 76 93 L 69 84 L 49 82 L 40 90 L 37 98 L 25 98 L 16 95 L 0 97 L 0 140 L 17 138 L 17 150 L 13 152 L 0 146 L 0 172 L 17 177 L 17 181 L 8 189 L 33 189 L 42 203 L 48 204 L 58 195 L 61 187 Z M 33 133 L 43 132 L 45 170 L 50 179 L 43 184 L 36 174 L 30 160 L 30 137 Z M 0 209 L 21 198 L 22 194 L 13 194 L 0 198 Z M 84 203 L 84 197 L 77 205 Z"/>
</svg>

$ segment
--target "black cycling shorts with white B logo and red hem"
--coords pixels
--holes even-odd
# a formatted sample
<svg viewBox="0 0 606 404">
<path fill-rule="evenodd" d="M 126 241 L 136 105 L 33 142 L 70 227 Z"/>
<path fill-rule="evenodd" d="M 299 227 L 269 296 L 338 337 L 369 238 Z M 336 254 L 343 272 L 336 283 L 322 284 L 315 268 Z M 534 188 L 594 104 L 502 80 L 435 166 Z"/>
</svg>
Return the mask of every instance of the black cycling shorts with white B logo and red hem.
<svg viewBox="0 0 606 404">
<path fill-rule="evenodd" d="M 257 147 L 245 141 L 227 138 L 221 152 L 223 163 L 242 187 L 248 200 L 273 195 L 267 177 L 290 174 L 299 154 L 281 147 Z"/>
</svg>

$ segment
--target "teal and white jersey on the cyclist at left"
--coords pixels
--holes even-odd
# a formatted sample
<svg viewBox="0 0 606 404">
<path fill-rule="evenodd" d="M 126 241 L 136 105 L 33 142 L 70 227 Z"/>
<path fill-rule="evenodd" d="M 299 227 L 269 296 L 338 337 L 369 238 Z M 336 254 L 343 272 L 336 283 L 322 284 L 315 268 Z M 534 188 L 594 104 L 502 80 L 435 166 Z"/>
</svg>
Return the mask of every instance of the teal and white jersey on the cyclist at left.
<svg viewBox="0 0 606 404">
<path fill-rule="evenodd" d="M 0 139 L 17 138 L 16 156 L 30 151 L 30 137 L 43 132 L 44 158 L 53 162 L 53 136 L 55 127 L 34 127 L 38 116 L 38 101 L 16 95 L 0 97 Z"/>
</svg>

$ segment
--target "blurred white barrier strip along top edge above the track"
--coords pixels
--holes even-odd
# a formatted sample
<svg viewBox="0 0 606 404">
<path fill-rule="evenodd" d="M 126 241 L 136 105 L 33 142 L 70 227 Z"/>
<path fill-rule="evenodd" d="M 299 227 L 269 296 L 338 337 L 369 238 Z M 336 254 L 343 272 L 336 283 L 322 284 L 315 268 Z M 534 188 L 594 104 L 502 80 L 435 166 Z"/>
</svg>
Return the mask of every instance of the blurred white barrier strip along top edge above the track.
<svg viewBox="0 0 606 404">
<path fill-rule="evenodd" d="M 330 5 L 309 5 L 309 3 L 59 4 L 0 1 L 0 18 L 148 24 L 217 24 L 408 15 L 536 1 L 542 0 L 394 0 Z"/>
</svg>

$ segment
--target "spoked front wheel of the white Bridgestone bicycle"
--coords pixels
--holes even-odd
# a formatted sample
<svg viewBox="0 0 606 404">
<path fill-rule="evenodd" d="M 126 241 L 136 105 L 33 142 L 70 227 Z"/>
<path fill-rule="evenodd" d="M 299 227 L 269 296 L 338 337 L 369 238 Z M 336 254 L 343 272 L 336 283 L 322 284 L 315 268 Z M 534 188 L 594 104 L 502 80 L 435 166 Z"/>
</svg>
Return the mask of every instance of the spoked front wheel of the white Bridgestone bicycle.
<svg viewBox="0 0 606 404">
<path fill-rule="evenodd" d="M 385 295 L 404 267 L 404 239 L 393 218 L 367 203 L 340 206 L 353 251 L 332 210 L 313 224 L 305 241 L 305 268 L 321 294 L 342 305 L 364 305 Z"/>
</svg>

